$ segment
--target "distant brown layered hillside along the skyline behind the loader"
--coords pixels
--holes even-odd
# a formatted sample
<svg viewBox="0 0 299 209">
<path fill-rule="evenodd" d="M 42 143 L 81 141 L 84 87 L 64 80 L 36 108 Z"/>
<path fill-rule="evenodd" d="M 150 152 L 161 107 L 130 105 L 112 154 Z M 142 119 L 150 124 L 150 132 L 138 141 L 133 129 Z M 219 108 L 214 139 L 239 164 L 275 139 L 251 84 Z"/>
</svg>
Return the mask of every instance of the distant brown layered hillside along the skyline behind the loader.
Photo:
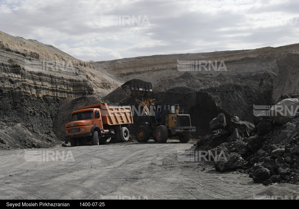
<svg viewBox="0 0 299 209">
<path fill-rule="evenodd" d="M 203 73 L 215 76 L 219 74 L 233 75 L 236 73 L 256 72 L 259 70 L 277 71 L 276 60 L 291 50 L 299 50 L 299 44 L 251 50 L 140 56 L 111 61 L 99 61 L 90 64 L 98 69 L 107 70 L 107 72 L 115 75 L 119 80 L 128 81 L 133 77 L 135 79 L 144 80 L 146 77 L 147 81 L 156 84 L 161 80 L 183 75 L 183 71 L 177 70 L 178 60 L 211 61 L 214 66 L 216 66 L 215 61 L 217 61 L 218 67 L 221 66 L 220 61 L 223 60 L 227 71 L 215 71 L 211 67 L 211 71 L 205 71 L 205 69 L 202 68 L 201 71 L 194 71 L 192 74 Z"/>
</svg>

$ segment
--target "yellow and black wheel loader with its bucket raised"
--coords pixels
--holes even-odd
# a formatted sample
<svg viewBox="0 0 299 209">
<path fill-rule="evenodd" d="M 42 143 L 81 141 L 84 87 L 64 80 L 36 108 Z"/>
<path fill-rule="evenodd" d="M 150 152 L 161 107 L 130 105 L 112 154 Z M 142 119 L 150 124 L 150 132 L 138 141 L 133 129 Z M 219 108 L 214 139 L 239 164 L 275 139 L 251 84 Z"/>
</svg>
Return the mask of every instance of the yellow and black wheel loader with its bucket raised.
<svg viewBox="0 0 299 209">
<path fill-rule="evenodd" d="M 176 101 L 158 101 L 150 99 L 153 95 L 152 84 L 139 80 L 130 80 L 121 85 L 127 96 L 145 110 L 148 122 L 136 130 L 136 140 L 147 142 L 152 137 L 158 143 L 166 143 L 168 138 L 178 136 L 181 143 L 187 143 L 195 127 L 191 126 L 190 115 L 179 109 Z"/>
</svg>

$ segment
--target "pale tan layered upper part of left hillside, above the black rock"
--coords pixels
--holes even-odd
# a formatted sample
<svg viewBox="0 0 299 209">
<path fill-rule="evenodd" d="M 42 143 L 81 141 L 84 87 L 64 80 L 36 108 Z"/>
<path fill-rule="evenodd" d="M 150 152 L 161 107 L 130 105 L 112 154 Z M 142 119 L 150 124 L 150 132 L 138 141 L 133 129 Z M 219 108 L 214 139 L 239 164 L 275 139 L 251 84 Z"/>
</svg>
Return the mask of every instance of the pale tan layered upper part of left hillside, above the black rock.
<svg viewBox="0 0 299 209">
<path fill-rule="evenodd" d="M 20 89 L 36 98 L 71 98 L 107 95 L 120 85 L 94 66 L 53 46 L 5 33 L 0 35 L 0 62 L 2 93 Z"/>
</svg>

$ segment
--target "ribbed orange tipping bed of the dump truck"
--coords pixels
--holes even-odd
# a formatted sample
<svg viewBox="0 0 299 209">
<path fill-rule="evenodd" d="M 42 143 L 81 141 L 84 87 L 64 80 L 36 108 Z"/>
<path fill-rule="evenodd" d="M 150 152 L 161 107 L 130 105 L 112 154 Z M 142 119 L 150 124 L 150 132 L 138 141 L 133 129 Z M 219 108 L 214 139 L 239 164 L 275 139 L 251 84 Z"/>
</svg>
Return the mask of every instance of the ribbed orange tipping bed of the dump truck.
<svg viewBox="0 0 299 209">
<path fill-rule="evenodd" d="M 108 106 L 107 103 L 89 105 L 77 108 L 77 110 L 98 108 L 101 110 L 103 124 L 130 124 L 133 123 L 133 116 L 130 106 Z"/>
</svg>

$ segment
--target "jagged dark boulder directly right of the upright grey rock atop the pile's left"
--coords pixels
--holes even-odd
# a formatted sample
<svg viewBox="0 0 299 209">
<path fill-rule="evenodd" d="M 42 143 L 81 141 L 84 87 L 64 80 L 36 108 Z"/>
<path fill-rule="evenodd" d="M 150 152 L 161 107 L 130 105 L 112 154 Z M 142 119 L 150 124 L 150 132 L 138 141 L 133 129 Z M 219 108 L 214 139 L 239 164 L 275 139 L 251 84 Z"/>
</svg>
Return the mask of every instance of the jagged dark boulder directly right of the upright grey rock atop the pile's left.
<svg viewBox="0 0 299 209">
<path fill-rule="evenodd" d="M 231 134 L 235 131 L 235 129 L 239 129 L 245 137 L 250 137 L 250 133 L 254 130 L 254 128 L 254 124 L 242 121 L 237 116 L 232 116 L 225 127 L 225 129 L 229 130 Z"/>
</svg>

